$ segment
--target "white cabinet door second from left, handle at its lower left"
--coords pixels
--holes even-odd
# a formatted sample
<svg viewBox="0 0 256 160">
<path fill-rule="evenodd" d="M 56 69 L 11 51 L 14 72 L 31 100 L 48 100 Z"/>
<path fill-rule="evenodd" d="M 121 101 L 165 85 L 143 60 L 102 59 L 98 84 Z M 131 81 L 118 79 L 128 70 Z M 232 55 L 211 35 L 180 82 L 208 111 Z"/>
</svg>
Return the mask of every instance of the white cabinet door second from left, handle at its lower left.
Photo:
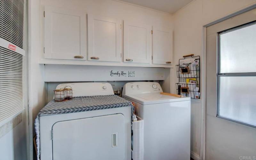
<svg viewBox="0 0 256 160">
<path fill-rule="evenodd" d="M 88 60 L 121 61 L 121 21 L 88 15 Z"/>
</svg>

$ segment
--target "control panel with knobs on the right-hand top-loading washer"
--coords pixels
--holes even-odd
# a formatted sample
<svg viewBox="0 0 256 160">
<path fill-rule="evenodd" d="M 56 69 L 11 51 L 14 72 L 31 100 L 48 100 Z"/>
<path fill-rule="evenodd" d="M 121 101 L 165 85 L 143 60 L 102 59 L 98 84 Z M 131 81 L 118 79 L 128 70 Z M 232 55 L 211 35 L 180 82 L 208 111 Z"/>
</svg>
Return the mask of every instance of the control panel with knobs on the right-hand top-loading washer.
<svg viewBox="0 0 256 160">
<path fill-rule="evenodd" d="M 123 94 L 160 93 L 162 87 L 157 82 L 130 82 L 124 84 Z"/>
</svg>

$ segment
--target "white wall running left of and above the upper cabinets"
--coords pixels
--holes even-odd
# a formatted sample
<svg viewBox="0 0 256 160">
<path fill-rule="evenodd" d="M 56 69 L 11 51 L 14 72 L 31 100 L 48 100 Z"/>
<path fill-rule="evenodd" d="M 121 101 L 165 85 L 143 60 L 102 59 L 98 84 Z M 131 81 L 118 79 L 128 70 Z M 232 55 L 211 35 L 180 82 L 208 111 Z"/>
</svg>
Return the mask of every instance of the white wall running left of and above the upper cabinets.
<svg viewBox="0 0 256 160">
<path fill-rule="evenodd" d="M 47 102 L 46 83 L 44 82 L 44 65 L 39 64 L 44 48 L 44 6 L 55 6 L 85 13 L 103 15 L 121 20 L 139 21 L 149 25 L 165 25 L 173 27 L 172 16 L 167 13 L 138 7 L 114 0 L 28 0 L 28 26 L 29 26 L 29 110 L 30 110 L 30 137 L 34 130 L 34 120 L 37 113 Z M 122 45 L 123 46 L 123 45 Z M 86 68 L 86 66 L 84 66 Z M 166 72 L 170 70 L 165 69 Z M 168 73 L 167 73 L 168 74 Z M 167 76 L 170 80 L 170 74 Z M 97 81 L 97 79 L 95 79 Z M 170 82 L 170 81 L 169 81 Z M 163 85 L 170 89 L 170 83 Z M 32 128 L 33 127 L 33 128 Z M 32 140 L 30 141 L 30 157 L 33 152 Z"/>
</svg>

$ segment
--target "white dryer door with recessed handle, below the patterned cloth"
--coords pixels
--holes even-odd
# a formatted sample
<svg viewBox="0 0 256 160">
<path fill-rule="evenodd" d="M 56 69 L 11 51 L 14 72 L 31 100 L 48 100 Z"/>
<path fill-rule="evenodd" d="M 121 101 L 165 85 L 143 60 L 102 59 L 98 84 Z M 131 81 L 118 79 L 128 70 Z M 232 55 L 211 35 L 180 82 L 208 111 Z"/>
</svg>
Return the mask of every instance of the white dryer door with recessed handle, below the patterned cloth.
<svg viewBox="0 0 256 160">
<path fill-rule="evenodd" d="M 53 160 L 124 159 L 122 114 L 57 122 L 52 133 Z"/>
</svg>

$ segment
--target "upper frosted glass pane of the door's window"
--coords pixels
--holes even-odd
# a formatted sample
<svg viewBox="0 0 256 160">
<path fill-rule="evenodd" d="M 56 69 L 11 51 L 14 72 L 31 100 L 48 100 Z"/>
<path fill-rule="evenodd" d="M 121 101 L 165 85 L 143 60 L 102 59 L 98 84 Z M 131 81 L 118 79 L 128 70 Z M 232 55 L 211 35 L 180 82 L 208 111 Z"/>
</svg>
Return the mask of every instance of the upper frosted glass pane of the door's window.
<svg viewBox="0 0 256 160">
<path fill-rule="evenodd" d="M 256 24 L 223 32 L 220 40 L 220 73 L 256 72 Z"/>
</svg>

